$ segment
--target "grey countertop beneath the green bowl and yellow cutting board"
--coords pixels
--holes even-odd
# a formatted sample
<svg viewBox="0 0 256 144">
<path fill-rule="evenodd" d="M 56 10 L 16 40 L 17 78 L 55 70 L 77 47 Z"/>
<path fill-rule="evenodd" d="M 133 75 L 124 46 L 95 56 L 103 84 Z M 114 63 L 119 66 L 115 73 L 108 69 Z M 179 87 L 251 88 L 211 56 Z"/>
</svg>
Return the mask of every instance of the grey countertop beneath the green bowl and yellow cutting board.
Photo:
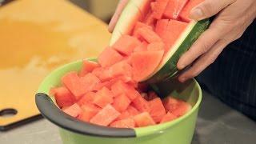
<svg viewBox="0 0 256 144">
<path fill-rule="evenodd" d="M 197 127 L 192 144 L 254 144 L 256 122 L 232 110 L 203 92 Z M 41 119 L 14 130 L 0 132 L 1 144 L 58 144 L 62 143 L 58 128 Z"/>
</svg>

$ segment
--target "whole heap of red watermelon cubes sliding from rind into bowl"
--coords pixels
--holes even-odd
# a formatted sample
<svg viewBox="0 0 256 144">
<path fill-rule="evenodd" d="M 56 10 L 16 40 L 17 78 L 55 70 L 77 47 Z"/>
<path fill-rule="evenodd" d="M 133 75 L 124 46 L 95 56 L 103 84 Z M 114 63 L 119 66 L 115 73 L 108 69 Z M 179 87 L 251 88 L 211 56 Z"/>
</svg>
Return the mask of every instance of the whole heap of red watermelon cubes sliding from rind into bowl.
<svg viewBox="0 0 256 144">
<path fill-rule="evenodd" d="M 62 77 L 53 88 L 58 107 L 83 122 L 134 128 L 170 122 L 191 109 L 189 103 L 160 99 L 146 84 L 169 48 L 190 22 L 188 0 L 156 0 L 130 34 L 107 46 L 98 61 L 83 61 L 82 70 Z"/>
</svg>

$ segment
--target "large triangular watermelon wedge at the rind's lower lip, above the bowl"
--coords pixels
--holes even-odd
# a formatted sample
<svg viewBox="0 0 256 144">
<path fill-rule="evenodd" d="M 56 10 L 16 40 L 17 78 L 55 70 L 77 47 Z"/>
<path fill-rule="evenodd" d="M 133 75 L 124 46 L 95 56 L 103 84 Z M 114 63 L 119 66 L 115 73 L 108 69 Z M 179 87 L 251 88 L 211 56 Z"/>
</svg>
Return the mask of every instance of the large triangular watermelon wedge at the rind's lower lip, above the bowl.
<svg viewBox="0 0 256 144">
<path fill-rule="evenodd" d="M 163 50 L 158 50 L 132 54 L 131 63 L 134 80 L 140 82 L 152 74 L 161 62 L 163 53 Z"/>
</svg>

